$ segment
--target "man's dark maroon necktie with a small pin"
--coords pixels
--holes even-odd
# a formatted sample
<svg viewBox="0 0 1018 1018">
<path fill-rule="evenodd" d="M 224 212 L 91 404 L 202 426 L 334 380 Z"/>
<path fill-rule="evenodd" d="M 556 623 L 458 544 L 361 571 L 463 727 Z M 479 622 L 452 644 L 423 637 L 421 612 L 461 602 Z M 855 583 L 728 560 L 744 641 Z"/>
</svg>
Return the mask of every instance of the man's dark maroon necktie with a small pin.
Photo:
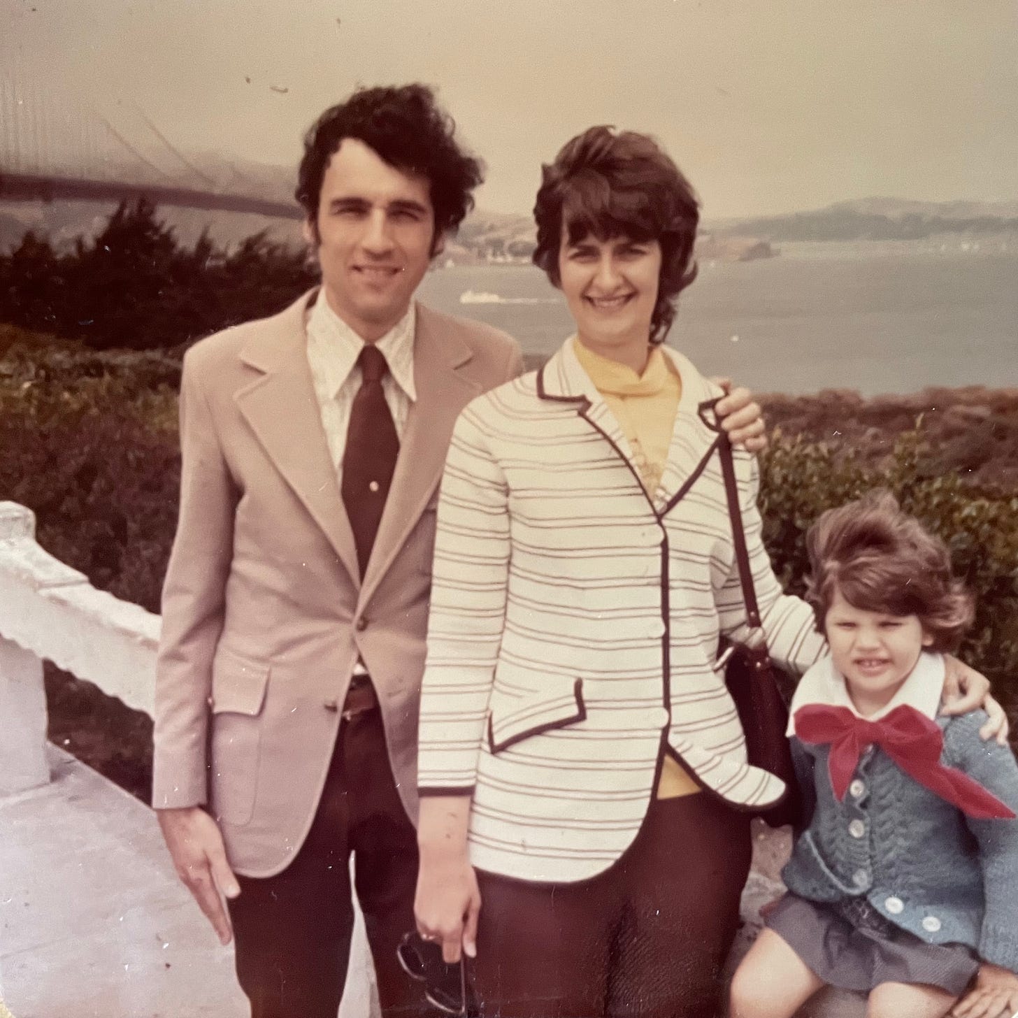
<svg viewBox="0 0 1018 1018">
<path fill-rule="evenodd" d="M 350 407 L 340 493 L 363 577 L 396 469 L 399 436 L 382 389 L 382 379 L 389 371 L 385 354 L 374 344 L 365 343 L 357 363 L 363 381 Z"/>
</svg>

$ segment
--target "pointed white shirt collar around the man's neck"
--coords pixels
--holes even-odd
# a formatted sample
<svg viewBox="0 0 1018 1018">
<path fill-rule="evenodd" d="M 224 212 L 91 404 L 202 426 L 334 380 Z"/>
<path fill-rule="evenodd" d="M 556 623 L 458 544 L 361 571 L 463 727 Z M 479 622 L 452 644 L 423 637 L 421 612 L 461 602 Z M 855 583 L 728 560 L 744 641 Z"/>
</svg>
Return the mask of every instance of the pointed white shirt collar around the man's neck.
<svg viewBox="0 0 1018 1018">
<path fill-rule="evenodd" d="M 385 355 L 389 373 L 411 402 L 417 392 L 413 385 L 413 340 L 416 334 L 416 305 L 411 301 L 406 314 L 376 342 Z M 323 286 L 307 318 L 307 341 L 317 347 L 329 396 L 336 398 L 350 377 L 364 347 L 364 341 L 330 306 Z"/>
</svg>

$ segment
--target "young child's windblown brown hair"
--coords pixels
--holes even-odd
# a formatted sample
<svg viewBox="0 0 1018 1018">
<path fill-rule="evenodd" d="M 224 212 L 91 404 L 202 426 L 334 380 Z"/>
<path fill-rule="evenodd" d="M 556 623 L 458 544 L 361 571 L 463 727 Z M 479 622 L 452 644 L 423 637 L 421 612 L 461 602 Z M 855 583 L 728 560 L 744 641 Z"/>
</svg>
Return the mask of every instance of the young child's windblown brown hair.
<svg viewBox="0 0 1018 1018">
<path fill-rule="evenodd" d="M 952 579 L 944 543 L 890 492 L 829 509 L 809 528 L 806 549 L 806 601 L 821 631 L 836 590 L 865 612 L 917 616 L 935 651 L 953 651 L 972 623 L 972 598 Z"/>
</svg>

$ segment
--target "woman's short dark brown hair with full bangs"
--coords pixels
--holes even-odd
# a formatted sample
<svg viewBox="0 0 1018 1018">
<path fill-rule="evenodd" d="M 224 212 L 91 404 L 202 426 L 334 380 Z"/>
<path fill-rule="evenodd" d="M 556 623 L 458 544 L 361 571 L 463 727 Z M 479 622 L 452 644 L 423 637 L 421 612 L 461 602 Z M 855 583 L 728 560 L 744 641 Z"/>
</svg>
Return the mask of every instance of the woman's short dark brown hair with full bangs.
<svg viewBox="0 0 1018 1018">
<path fill-rule="evenodd" d="M 651 342 L 664 340 L 675 318 L 675 298 L 696 278 L 692 260 L 699 207 L 689 181 L 654 138 L 612 127 L 590 127 L 567 142 L 542 167 L 533 217 L 533 262 L 555 286 L 563 236 L 576 243 L 626 236 L 661 244 L 658 302 Z"/>
</svg>

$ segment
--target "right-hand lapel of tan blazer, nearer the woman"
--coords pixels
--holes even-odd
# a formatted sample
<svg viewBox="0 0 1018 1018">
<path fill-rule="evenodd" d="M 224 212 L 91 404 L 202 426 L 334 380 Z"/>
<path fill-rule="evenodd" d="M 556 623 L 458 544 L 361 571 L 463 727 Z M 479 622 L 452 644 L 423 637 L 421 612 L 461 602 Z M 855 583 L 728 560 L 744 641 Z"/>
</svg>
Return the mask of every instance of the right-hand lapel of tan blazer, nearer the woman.
<svg viewBox="0 0 1018 1018">
<path fill-rule="evenodd" d="M 472 355 L 461 340 L 442 335 L 428 308 L 417 305 L 413 339 L 417 398 L 406 418 L 396 472 L 364 573 L 361 607 L 371 600 L 438 488 L 459 411 L 483 391 L 478 382 L 459 371 Z"/>
</svg>

